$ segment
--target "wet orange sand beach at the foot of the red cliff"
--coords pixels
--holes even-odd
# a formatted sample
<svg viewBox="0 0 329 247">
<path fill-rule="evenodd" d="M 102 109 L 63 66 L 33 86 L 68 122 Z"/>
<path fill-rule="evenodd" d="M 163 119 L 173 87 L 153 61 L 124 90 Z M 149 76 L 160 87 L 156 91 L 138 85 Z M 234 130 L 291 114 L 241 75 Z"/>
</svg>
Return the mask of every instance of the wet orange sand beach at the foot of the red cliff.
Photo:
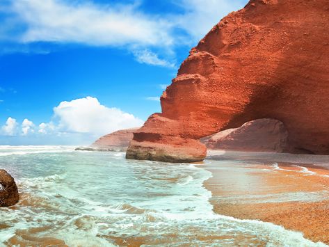
<svg viewBox="0 0 329 247">
<path fill-rule="evenodd" d="M 202 167 L 213 177 L 204 186 L 214 212 L 275 223 L 329 244 L 329 156 L 211 151 L 208 160 Z"/>
</svg>

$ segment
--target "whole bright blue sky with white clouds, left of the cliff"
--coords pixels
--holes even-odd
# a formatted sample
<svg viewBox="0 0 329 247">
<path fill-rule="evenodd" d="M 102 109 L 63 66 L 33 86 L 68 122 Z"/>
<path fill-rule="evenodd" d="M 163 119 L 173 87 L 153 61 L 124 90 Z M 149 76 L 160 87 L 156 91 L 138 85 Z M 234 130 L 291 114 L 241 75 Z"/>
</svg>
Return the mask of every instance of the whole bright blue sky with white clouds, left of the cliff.
<svg viewBox="0 0 329 247">
<path fill-rule="evenodd" d="M 86 145 L 159 96 L 246 0 L 1 0 L 0 145 Z"/>
</svg>

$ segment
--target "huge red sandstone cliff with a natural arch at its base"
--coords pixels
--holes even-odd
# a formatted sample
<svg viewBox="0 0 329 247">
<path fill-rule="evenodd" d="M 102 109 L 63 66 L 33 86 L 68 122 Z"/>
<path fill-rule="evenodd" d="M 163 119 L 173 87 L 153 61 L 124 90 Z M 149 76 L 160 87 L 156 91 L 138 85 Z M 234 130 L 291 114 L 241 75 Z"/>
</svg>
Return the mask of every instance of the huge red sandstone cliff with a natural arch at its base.
<svg viewBox="0 0 329 247">
<path fill-rule="evenodd" d="M 290 152 L 329 154 L 328 37 L 328 0 L 252 0 L 230 13 L 191 49 L 127 158 L 200 161 L 196 140 L 259 118 L 284 123 Z"/>
</svg>

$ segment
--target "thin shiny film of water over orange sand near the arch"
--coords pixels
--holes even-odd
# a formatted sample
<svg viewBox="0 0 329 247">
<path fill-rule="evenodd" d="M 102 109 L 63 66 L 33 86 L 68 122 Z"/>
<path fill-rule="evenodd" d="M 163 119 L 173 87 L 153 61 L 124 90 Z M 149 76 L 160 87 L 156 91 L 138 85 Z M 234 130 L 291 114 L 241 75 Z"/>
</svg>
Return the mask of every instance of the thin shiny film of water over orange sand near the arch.
<svg viewBox="0 0 329 247">
<path fill-rule="evenodd" d="M 207 161 L 216 174 L 207 182 L 218 203 L 319 202 L 329 199 L 328 186 L 305 178 L 327 177 L 303 166 L 241 160 Z M 315 170 L 315 169 L 314 169 Z M 316 169 L 319 170 L 319 169 Z"/>
</svg>

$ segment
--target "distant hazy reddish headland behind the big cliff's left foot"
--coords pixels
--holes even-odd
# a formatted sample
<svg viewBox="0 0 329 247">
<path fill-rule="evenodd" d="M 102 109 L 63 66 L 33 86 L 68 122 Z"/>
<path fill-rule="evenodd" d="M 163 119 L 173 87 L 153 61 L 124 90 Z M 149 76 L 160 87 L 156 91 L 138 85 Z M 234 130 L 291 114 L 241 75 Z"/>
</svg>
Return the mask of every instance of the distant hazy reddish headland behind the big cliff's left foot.
<svg viewBox="0 0 329 247">
<path fill-rule="evenodd" d="M 91 145 L 92 148 L 100 150 L 127 150 L 131 139 L 134 137 L 133 132 L 139 128 L 122 129 L 106 136 L 102 136 Z"/>
</svg>

